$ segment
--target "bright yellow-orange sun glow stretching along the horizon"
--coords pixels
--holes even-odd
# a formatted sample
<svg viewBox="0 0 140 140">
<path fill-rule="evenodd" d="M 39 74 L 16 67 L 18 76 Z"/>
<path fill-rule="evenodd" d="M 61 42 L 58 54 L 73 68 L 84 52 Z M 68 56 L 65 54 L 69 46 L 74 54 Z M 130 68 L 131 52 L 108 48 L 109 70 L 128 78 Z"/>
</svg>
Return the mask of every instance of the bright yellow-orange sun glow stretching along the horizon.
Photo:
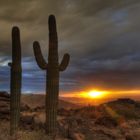
<svg viewBox="0 0 140 140">
<path fill-rule="evenodd" d="M 93 104 L 99 105 L 104 102 L 116 100 L 118 98 L 130 98 L 140 100 L 140 90 L 103 90 L 103 89 L 86 89 L 77 92 L 65 92 L 60 94 L 60 97 L 65 98 L 67 101 L 79 104 Z"/>
</svg>

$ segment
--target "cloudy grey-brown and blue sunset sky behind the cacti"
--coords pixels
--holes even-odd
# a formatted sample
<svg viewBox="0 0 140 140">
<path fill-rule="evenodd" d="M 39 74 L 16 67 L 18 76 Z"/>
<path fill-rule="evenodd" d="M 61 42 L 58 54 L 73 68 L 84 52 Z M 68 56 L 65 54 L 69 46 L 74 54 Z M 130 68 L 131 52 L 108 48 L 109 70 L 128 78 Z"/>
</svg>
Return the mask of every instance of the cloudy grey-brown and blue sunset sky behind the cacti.
<svg viewBox="0 0 140 140">
<path fill-rule="evenodd" d="M 71 55 L 61 73 L 60 92 L 87 89 L 140 90 L 139 0 L 1 0 L 0 90 L 9 91 L 11 28 L 19 26 L 25 93 L 45 93 L 45 71 L 36 64 L 32 44 L 48 54 L 48 16 L 56 15 L 59 61 Z M 123 94 L 123 92 L 122 92 Z M 132 93 L 130 93 L 132 94 Z"/>
</svg>

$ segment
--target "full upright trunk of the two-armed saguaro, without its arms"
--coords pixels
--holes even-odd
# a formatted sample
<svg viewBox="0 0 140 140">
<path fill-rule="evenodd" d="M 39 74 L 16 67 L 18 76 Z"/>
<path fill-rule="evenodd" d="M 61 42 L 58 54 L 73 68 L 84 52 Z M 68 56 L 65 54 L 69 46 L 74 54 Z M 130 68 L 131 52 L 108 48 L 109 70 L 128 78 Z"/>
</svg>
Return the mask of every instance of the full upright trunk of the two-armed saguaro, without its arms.
<svg viewBox="0 0 140 140">
<path fill-rule="evenodd" d="M 58 37 L 54 18 L 49 18 L 49 54 L 46 83 L 46 132 L 51 134 L 56 131 L 59 94 Z"/>
</svg>

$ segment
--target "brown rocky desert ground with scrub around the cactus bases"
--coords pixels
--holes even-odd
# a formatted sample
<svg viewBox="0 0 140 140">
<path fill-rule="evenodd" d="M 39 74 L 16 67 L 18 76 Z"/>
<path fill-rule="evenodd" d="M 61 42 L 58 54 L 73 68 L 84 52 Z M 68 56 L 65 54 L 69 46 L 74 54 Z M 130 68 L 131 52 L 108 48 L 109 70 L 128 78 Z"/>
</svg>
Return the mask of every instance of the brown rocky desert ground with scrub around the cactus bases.
<svg viewBox="0 0 140 140">
<path fill-rule="evenodd" d="M 34 95 L 35 96 L 35 95 Z M 9 137 L 10 96 L 0 93 L 0 140 Z M 35 104 L 35 103 L 34 103 Z M 70 105 L 70 103 L 68 103 Z M 66 105 L 66 102 L 65 102 Z M 46 140 L 44 106 L 21 104 L 19 140 Z M 140 140 L 140 103 L 118 99 L 100 106 L 58 110 L 55 140 Z"/>
</svg>

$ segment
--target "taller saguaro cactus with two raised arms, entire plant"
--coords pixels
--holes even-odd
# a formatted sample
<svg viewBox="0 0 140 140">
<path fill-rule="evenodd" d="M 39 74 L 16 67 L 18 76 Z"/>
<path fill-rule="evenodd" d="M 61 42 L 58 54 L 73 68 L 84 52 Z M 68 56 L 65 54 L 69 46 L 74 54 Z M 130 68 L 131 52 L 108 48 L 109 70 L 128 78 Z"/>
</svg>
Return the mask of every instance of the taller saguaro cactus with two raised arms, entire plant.
<svg viewBox="0 0 140 140">
<path fill-rule="evenodd" d="M 49 53 L 48 63 L 46 63 L 41 53 L 40 45 L 37 41 L 33 43 L 34 54 L 38 66 L 46 70 L 46 133 L 54 134 L 56 131 L 57 107 L 59 96 L 59 71 L 64 71 L 68 66 L 70 56 L 65 54 L 62 62 L 58 62 L 58 38 L 56 31 L 55 16 L 50 15 L 49 20 Z"/>
</svg>

